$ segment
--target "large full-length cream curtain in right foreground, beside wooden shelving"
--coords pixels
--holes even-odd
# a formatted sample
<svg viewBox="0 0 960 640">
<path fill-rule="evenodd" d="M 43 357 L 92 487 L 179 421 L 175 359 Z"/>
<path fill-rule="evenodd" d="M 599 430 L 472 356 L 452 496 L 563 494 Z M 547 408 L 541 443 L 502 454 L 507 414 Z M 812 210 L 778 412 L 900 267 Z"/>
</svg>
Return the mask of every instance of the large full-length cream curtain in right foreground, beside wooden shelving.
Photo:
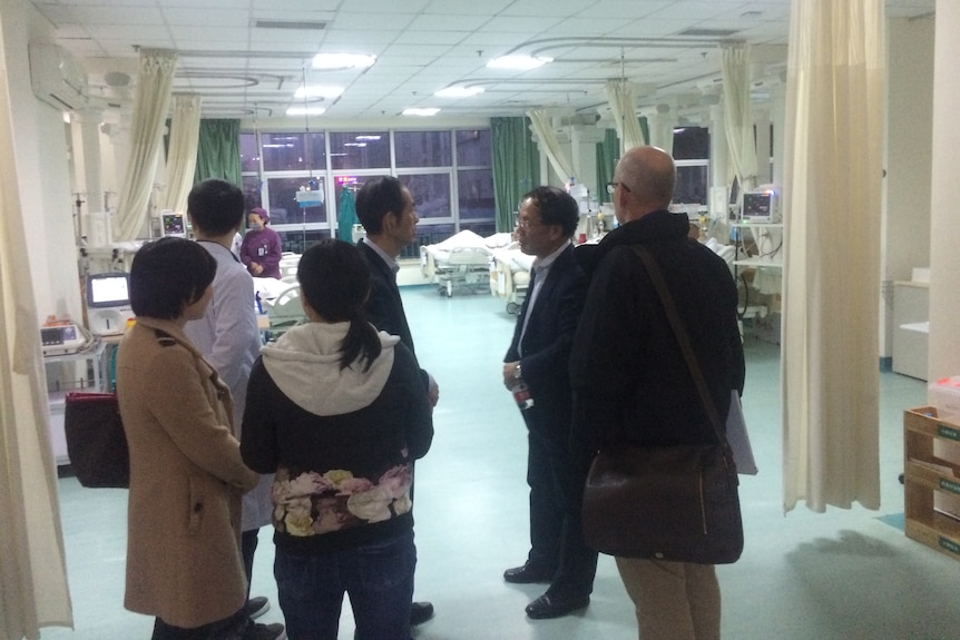
<svg viewBox="0 0 960 640">
<path fill-rule="evenodd" d="M 880 506 L 883 0 L 793 0 L 785 122 L 784 510 Z"/>
</svg>

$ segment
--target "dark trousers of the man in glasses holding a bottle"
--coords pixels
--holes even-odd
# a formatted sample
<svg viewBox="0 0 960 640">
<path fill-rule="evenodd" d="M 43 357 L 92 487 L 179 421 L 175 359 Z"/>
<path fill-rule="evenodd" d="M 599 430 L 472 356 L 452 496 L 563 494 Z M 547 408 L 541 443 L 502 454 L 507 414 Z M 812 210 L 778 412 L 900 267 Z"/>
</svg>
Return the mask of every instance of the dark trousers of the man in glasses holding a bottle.
<svg viewBox="0 0 960 640">
<path fill-rule="evenodd" d="M 528 562 L 554 572 L 548 593 L 589 594 L 597 573 L 597 552 L 584 542 L 582 466 L 574 464 L 566 436 L 541 433 L 535 427 L 529 430 L 528 442 Z"/>
</svg>

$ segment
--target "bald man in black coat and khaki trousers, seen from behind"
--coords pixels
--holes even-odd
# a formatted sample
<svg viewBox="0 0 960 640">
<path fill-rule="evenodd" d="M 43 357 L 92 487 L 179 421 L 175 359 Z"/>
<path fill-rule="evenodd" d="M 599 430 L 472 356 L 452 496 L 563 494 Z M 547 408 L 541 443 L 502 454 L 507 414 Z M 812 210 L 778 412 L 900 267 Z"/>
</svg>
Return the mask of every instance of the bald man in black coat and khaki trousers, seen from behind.
<svg viewBox="0 0 960 640">
<path fill-rule="evenodd" d="M 743 391 L 737 293 L 726 264 L 687 237 L 686 215 L 667 210 L 676 168 L 662 149 L 627 151 L 607 186 L 619 227 L 587 256 L 590 286 L 570 356 L 574 437 L 606 446 L 715 442 L 716 435 L 663 304 L 633 245 L 654 256 L 689 334 L 721 422 Z M 586 255 L 586 254 L 585 254 Z M 617 558 L 644 640 L 719 638 L 714 567 Z"/>
</svg>

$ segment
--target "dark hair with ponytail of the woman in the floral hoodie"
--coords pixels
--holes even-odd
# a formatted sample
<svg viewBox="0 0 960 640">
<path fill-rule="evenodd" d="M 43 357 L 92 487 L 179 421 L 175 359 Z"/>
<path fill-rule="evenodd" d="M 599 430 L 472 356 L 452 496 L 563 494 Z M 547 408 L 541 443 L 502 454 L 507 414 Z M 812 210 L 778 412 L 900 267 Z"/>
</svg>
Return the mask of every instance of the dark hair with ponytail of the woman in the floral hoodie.
<svg viewBox="0 0 960 640">
<path fill-rule="evenodd" d="M 340 368 L 356 361 L 363 371 L 380 355 L 380 336 L 366 321 L 370 267 L 351 244 L 325 239 L 304 252 L 296 268 L 301 295 L 326 322 L 350 322 L 341 345 Z"/>
</svg>

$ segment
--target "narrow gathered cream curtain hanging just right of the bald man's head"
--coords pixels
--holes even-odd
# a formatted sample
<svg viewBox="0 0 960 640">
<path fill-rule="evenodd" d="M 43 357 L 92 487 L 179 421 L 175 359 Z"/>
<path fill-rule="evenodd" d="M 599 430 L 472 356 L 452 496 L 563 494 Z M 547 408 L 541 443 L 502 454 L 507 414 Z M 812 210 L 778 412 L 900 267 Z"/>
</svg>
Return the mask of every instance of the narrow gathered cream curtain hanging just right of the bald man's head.
<svg viewBox="0 0 960 640">
<path fill-rule="evenodd" d="M 725 45 L 721 71 L 727 155 L 743 194 L 757 186 L 756 141 L 750 105 L 750 49 L 745 45 Z"/>
</svg>

